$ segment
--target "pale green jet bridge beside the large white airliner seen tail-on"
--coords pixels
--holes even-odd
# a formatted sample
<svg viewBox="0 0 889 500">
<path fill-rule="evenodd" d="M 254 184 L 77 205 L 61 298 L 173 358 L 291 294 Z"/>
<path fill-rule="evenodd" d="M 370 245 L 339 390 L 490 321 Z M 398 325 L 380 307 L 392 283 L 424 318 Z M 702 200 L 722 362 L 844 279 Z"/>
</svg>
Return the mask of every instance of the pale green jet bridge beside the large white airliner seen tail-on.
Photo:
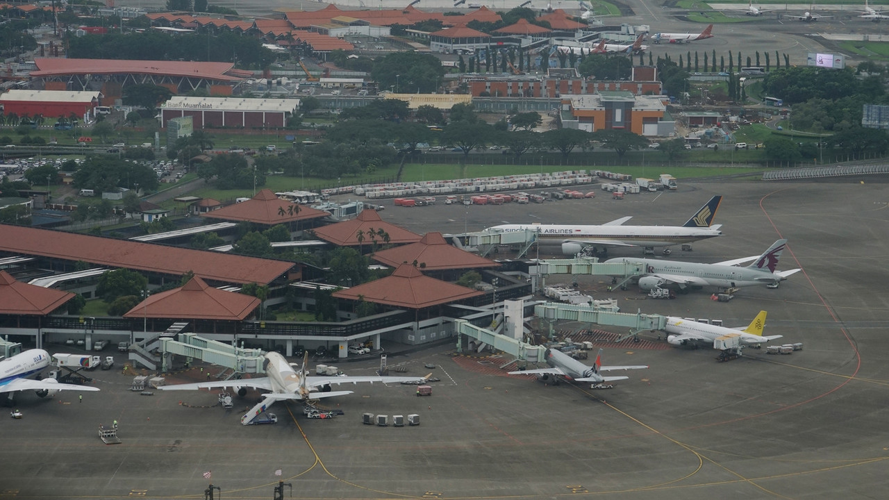
<svg viewBox="0 0 889 500">
<path fill-rule="evenodd" d="M 161 342 L 162 369 L 164 371 L 170 367 L 172 355 L 178 354 L 224 367 L 219 375 L 230 368 L 233 371 L 228 375 L 228 378 L 240 374 L 265 373 L 265 369 L 262 367 L 265 356 L 264 352 L 259 349 L 243 349 L 228 343 L 205 339 L 195 334 L 180 334 L 178 341 L 164 337 Z"/>
</svg>

